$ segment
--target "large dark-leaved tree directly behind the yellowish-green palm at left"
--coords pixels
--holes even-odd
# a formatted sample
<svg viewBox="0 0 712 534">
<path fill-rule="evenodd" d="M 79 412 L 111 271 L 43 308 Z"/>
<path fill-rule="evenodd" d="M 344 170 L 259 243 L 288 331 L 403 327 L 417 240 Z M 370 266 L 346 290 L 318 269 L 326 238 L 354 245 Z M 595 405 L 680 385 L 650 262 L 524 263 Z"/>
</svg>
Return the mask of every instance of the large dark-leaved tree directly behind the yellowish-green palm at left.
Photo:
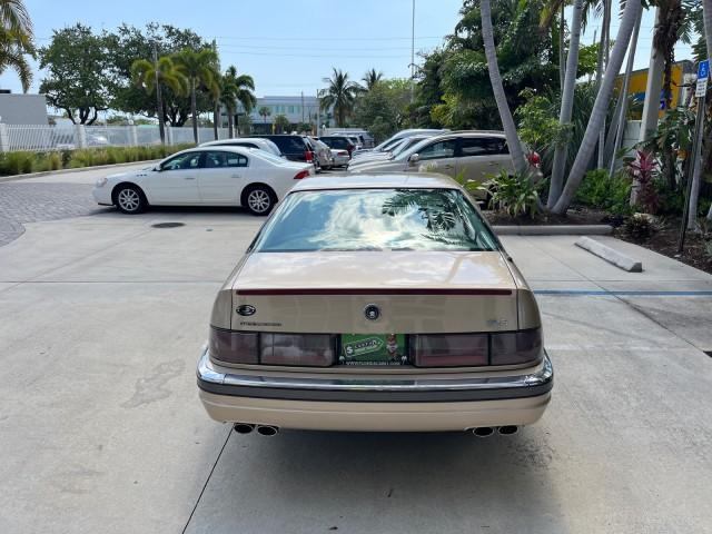
<svg viewBox="0 0 712 534">
<path fill-rule="evenodd" d="M 109 68 L 105 72 L 111 79 L 113 91 L 111 108 L 132 115 L 156 117 L 156 98 L 136 86 L 131 80 L 131 66 L 136 59 L 157 56 L 172 56 L 186 48 L 200 50 L 210 44 L 196 32 L 170 24 L 151 22 L 144 28 L 121 24 L 115 31 L 105 32 L 109 53 Z M 190 97 L 174 93 L 170 88 L 162 91 L 166 123 L 184 126 L 190 117 Z M 200 91 L 197 95 L 199 112 L 210 111 L 212 103 Z"/>
</svg>

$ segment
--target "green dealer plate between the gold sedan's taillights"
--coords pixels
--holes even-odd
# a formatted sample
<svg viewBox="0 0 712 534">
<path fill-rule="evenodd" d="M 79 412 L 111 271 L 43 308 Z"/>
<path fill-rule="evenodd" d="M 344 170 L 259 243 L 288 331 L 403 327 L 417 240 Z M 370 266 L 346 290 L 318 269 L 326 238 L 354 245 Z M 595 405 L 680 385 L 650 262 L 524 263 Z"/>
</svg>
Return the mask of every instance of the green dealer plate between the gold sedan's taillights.
<svg viewBox="0 0 712 534">
<path fill-rule="evenodd" d="M 343 365 L 403 365 L 407 363 L 403 334 L 343 334 Z"/>
</svg>

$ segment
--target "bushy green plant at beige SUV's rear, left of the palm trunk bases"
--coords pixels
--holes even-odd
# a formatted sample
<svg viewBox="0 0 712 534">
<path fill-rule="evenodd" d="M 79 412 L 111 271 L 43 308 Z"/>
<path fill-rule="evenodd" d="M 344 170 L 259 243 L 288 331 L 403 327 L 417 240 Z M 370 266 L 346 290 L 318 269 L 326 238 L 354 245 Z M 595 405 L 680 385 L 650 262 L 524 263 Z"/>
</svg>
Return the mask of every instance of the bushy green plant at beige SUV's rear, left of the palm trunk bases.
<svg viewBox="0 0 712 534">
<path fill-rule="evenodd" d="M 510 172 L 502 169 L 492 175 L 478 189 L 490 196 L 491 209 L 504 211 L 510 217 L 533 217 L 540 209 L 538 187 L 528 172 Z"/>
</svg>

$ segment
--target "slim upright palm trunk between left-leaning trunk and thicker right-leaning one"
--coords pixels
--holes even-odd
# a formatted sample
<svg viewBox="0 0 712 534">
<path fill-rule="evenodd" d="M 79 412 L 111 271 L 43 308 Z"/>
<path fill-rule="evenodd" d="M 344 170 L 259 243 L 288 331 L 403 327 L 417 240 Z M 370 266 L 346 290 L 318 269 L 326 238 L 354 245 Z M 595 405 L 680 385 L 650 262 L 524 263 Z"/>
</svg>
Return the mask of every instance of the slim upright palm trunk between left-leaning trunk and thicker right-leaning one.
<svg viewBox="0 0 712 534">
<path fill-rule="evenodd" d="M 571 122 L 571 115 L 574 107 L 574 91 L 576 89 L 576 68 L 578 67 L 578 42 L 581 40 L 581 14 L 583 12 L 583 0 L 574 1 L 574 11 L 571 20 L 571 38 L 568 56 L 566 58 L 566 71 L 564 73 L 564 85 L 561 90 L 561 111 L 558 112 L 558 125 L 563 128 Z M 552 168 L 552 181 L 548 189 L 547 208 L 553 208 L 558 195 L 564 186 L 564 170 L 568 156 L 568 142 L 556 146 L 554 151 L 554 162 Z"/>
</svg>

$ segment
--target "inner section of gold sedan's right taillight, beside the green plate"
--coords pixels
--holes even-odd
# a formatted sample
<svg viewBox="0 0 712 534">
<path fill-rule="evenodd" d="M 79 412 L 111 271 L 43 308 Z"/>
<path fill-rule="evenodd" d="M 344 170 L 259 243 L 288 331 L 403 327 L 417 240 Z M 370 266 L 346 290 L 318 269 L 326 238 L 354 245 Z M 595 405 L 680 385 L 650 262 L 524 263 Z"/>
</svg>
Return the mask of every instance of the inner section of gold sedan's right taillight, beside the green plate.
<svg viewBox="0 0 712 534">
<path fill-rule="evenodd" d="M 487 365 L 487 334 L 417 335 L 411 337 L 411 357 L 417 367 Z"/>
</svg>

